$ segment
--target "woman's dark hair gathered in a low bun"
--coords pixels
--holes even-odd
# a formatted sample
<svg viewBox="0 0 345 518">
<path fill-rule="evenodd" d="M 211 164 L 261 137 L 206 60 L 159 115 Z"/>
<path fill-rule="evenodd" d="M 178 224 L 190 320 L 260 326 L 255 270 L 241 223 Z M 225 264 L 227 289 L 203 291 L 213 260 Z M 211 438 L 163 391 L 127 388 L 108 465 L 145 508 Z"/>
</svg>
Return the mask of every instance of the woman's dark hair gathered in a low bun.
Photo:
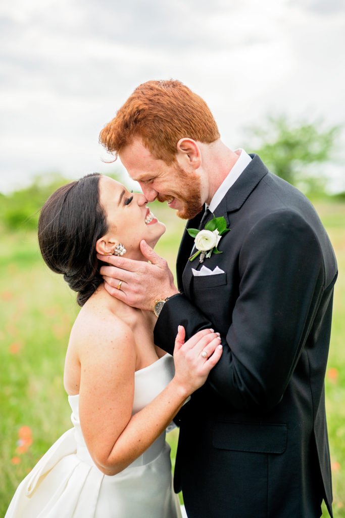
<svg viewBox="0 0 345 518">
<path fill-rule="evenodd" d="M 38 242 L 46 264 L 63 274 L 86 300 L 103 282 L 96 242 L 108 231 L 107 215 L 99 201 L 100 175 L 94 173 L 63 185 L 44 204 L 38 220 Z"/>
</svg>

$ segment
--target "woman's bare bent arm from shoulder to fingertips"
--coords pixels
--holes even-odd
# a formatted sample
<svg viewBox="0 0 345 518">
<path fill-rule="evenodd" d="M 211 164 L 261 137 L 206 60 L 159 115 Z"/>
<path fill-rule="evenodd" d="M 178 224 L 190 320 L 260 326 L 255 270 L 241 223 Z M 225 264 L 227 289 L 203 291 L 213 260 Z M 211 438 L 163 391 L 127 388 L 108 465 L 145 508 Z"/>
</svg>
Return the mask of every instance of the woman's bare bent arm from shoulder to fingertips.
<svg viewBox="0 0 345 518">
<path fill-rule="evenodd" d="M 181 327 L 174 352 L 175 376 L 145 408 L 131 416 L 136 350 L 123 322 L 102 321 L 80 337 L 79 413 L 83 436 L 95 464 L 113 475 L 138 458 L 163 432 L 186 398 L 206 380 L 218 362 L 218 336 L 205 329 L 184 343 Z M 91 326 L 92 327 L 92 326 Z M 86 336 L 87 335 L 87 336 Z M 207 348 L 206 361 L 200 353 Z"/>
</svg>

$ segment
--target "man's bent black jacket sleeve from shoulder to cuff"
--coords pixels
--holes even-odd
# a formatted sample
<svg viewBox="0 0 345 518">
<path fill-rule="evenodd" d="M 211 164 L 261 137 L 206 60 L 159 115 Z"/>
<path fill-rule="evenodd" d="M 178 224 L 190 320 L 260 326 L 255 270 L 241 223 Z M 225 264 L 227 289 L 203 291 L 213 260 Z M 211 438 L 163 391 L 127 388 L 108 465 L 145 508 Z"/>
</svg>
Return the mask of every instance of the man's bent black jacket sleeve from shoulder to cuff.
<svg viewBox="0 0 345 518">
<path fill-rule="evenodd" d="M 269 410 L 283 396 L 320 305 L 319 241 L 299 214 L 273 212 L 243 240 L 238 275 L 231 325 L 221 337 L 223 354 L 208 383 L 239 409 Z M 156 343 L 170 353 L 179 324 L 187 338 L 199 329 L 216 329 L 187 297 L 177 295 L 164 305 L 154 330 Z"/>
</svg>

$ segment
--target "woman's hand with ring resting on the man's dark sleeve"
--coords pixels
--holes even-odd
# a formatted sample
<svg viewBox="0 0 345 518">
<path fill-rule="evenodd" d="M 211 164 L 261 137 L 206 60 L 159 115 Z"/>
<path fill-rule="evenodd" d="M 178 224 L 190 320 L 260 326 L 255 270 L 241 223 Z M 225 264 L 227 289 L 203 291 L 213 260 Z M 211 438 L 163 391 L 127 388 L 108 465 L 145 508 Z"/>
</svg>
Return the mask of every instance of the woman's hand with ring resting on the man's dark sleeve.
<svg viewBox="0 0 345 518">
<path fill-rule="evenodd" d="M 218 362 L 222 346 L 219 333 L 203 329 L 185 342 L 185 328 L 178 326 L 175 339 L 174 382 L 186 391 L 186 397 L 201 387 L 209 371 Z"/>
</svg>

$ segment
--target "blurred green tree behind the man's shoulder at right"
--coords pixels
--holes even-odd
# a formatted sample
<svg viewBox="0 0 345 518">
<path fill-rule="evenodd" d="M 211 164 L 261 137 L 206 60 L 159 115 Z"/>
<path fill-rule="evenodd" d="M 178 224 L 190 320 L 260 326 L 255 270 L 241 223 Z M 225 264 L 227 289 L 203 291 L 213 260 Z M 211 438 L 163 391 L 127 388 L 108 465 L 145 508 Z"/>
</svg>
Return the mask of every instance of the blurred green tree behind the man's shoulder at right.
<svg viewBox="0 0 345 518">
<path fill-rule="evenodd" d="M 287 116 L 268 116 L 262 126 L 247 129 L 249 149 L 258 153 L 267 167 L 305 194 L 324 193 L 325 164 L 335 162 L 341 126 L 322 128 L 322 121 L 291 123 Z M 321 165 L 323 167 L 321 168 Z"/>
</svg>

